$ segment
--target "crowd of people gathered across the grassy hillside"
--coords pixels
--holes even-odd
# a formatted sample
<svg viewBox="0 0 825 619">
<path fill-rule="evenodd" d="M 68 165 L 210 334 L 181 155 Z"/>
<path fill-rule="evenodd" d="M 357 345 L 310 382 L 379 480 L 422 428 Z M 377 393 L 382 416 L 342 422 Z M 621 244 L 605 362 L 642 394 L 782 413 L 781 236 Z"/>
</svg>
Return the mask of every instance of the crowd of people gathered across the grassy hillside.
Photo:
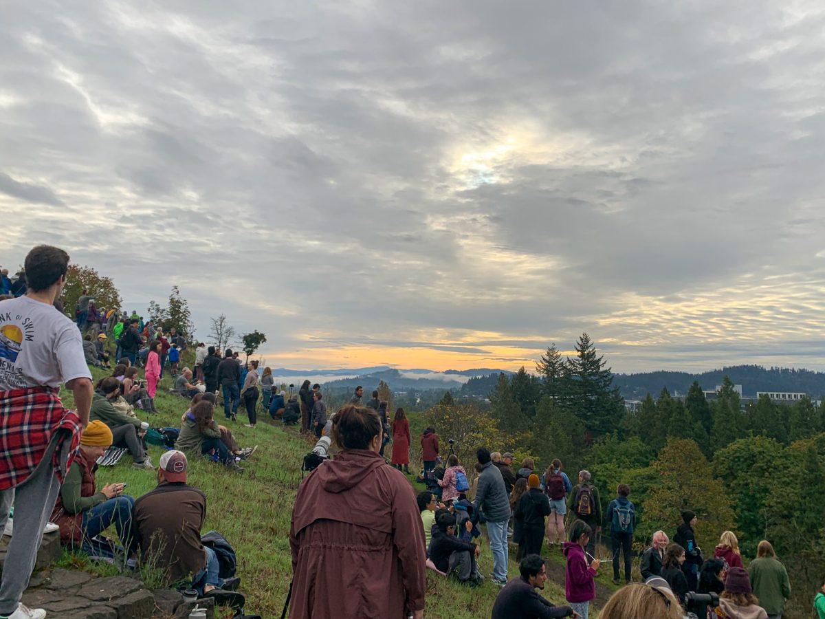
<svg viewBox="0 0 825 619">
<path fill-rule="evenodd" d="M 67 546 L 97 556 L 120 552 L 133 565 L 162 565 L 170 580 L 243 616 L 239 579 L 220 576 L 220 553 L 201 536 L 205 494 L 186 483 L 193 456 L 243 470 L 238 463 L 256 449 L 240 447 L 229 427 L 215 421 L 219 391 L 226 420 L 237 420 L 243 403 L 247 428 L 255 428 L 260 402 L 272 418 L 299 422 L 302 432 L 328 437 L 339 450 L 310 473 L 295 499 L 290 617 L 422 617 L 431 569 L 437 578 L 468 587 L 488 580 L 499 587 L 493 619 L 587 619 L 602 563 L 602 527 L 613 582 L 624 584 L 601 609 L 602 619 L 676 619 L 685 612 L 765 619 L 784 612 L 790 582 L 769 541 L 759 542 L 747 569 L 733 532 L 722 532 L 713 556 L 705 558 L 695 536 L 698 516 L 685 510 L 673 541 L 663 531 L 653 535 L 641 558 L 641 579 L 634 582 L 631 542 L 639 522 L 629 485 L 619 484 L 603 509 L 587 470 L 573 484 L 558 459 L 542 471 L 531 458 L 516 464 L 512 453 L 488 447 L 476 451 L 471 465 L 463 464 L 451 442 L 442 457 L 435 429 L 426 428 L 417 440 L 427 490 L 415 494 L 405 475 L 409 420 L 397 409 L 390 421 L 378 391 L 365 403 L 359 386 L 342 409 L 328 414 L 320 385 L 305 380 L 295 398 L 285 399 L 270 368 L 259 376 L 257 361 L 244 363 L 231 349 L 221 355 L 196 344 L 195 371 L 181 368 L 189 343 L 174 329 L 164 333 L 134 313 L 97 309 L 87 291 L 74 320 L 56 311 L 67 266 L 63 250 L 39 246 L 26 257 L 22 287 L 16 286 L 20 276 L 12 281 L 2 275 L 0 292 L 7 298 L 0 300 L 0 524 L 12 537 L 0 619 L 45 617 L 42 609 L 21 604 L 21 595 L 50 522 Z M 117 346 L 114 357 L 106 345 L 110 339 Z M 92 385 L 89 366 L 112 366 L 113 360 L 111 376 Z M 172 374 L 172 390 L 186 411 L 174 448 L 156 468 L 146 449 L 149 423 L 138 414 L 155 412 L 164 372 Z M 62 406 L 61 385 L 73 392 L 76 410 Z M 383 454 L 389 440 L 388 461 Z M 122 483 L 97 489 L 97 462 L 110 447 L 128 451 L 134 467 L 156 471 L 157 487 L 138 499 L 125 494 Z M 15 521 L 28 526 L 10 527 Z M 122 546 L 101 537 L 109 527 Z M 519 560 L 513 579 L 511 543 Z M 558 605 L 539 593 L 548 578 L 541 556 L 545 544 L 565 564 L 566 599 Z M 487 575 L 479 569 L 485 546 L 493 564 Z M 818 594 L 814 608 L 825 619 L 825 593 Z"/>
</svg>

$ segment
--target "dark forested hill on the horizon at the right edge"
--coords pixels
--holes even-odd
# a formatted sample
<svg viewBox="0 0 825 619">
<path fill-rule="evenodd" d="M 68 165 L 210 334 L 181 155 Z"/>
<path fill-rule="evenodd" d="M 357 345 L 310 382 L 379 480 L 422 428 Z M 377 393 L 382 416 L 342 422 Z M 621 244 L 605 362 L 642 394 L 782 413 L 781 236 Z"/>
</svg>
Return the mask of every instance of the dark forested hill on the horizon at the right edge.
<svg viewBox="0 0 825 619">
<path fill-rule="evenodd" d="M 662 387 L 667 387 L 671 394 L 686 394 L 694 380 L 703 389 L 711 390 L 725 376 L 742 385 L 742 395 L 751 397 L 756 397 L 757 391 L 798 391 L 813 398 L 825 394 L 825 372 L 786 367 L 729 366 L 700 374 L 676 371 L 615 374 L 613 385 L 619 387 L 625 399 L 643 399 L 648 393 L 655 397 Z"/>
</svg>

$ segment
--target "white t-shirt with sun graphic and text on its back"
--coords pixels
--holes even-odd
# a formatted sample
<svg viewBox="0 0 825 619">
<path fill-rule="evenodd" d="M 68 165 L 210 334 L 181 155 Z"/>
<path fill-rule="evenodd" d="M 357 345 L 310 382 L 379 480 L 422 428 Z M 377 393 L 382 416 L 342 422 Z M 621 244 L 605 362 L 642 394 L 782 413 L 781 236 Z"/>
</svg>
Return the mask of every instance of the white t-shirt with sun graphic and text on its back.
<svg viewBox="0 0 825 619">
<path fill-rule="evenodd" d="M 0 391 L 75 378 L 92 378 L 77 325 L 28 296 L 0 301 Z"/>
</svg>

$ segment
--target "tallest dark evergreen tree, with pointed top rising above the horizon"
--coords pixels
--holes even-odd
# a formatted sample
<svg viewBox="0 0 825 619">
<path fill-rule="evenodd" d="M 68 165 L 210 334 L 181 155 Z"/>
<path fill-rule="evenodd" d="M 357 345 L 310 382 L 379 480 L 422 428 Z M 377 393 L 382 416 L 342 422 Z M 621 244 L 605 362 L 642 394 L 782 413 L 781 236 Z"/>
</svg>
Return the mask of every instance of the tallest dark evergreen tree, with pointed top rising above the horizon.
<svg viewBox="0 0 825 619">
<path fill-rule="evenodd" d="M 599 357 L 587 333 L 576 343 L 576 357 L 568 357 L 563 403 L 582 420 L 588 432 L 601 436 L 619 428 L 625 414 L 624 400 L 613 387 L 613 374 Z"/>
</svg>

